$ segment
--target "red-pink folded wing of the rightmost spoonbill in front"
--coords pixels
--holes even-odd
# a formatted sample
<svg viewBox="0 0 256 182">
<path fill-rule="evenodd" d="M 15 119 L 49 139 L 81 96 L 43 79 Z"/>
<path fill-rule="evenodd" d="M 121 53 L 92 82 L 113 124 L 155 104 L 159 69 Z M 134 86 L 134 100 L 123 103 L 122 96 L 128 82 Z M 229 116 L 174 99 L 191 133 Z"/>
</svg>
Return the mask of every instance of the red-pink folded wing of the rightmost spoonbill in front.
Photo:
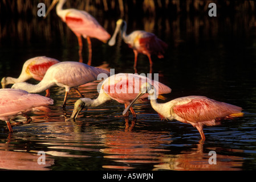
<svg viewBox="0 0 256 182">
<path fill-rule="evenodd" d="M 173 111 L 182 119 L 190 122 L 212 121 L 216 118 L 240 113 L 242 110 L 241 107 L 202 96 L 181 97 L 173 101 L 174 106 L 171 112 Z"/>
</svg>

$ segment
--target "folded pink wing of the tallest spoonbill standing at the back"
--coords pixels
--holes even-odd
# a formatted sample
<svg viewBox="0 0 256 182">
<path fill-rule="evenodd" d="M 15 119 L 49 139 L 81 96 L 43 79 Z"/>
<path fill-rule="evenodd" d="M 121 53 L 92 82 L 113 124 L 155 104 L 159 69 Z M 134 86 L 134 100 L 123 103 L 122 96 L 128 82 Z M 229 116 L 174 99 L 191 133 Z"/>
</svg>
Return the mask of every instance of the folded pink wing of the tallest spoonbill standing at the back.
<svg viewBox="0 0 256 182">
<path fill-rule="evenodd" d="M 64 22 L 67 23 L 67 26 L 76 36 L 83 35 L 84 38 L 89 36 L 103 42 L 110 38 L 108 32 L 86 11 L 68 9 Z"/>
</svg>

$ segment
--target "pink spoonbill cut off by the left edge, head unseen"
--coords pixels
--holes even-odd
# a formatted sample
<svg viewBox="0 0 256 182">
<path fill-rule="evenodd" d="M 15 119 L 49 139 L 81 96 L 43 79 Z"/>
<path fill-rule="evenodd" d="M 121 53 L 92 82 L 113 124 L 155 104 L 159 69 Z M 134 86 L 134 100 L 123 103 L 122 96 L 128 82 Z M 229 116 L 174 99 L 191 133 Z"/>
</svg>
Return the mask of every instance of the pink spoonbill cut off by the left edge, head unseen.
<svg viewBox="0 0 256 182">
<path fill-rule="evenodd" d="M 42 110 L 50 112 L 47 105 L 54 104 L 51 98 L 31 94 L 20 89 L 0 89 L 0 120 L 7 123 L 10 133 L 13 132 L 10 119 L 15 115 L 24 115 L 27 122 L 31 118 L 27 115 L 29 111 Z"/>
</svg>

